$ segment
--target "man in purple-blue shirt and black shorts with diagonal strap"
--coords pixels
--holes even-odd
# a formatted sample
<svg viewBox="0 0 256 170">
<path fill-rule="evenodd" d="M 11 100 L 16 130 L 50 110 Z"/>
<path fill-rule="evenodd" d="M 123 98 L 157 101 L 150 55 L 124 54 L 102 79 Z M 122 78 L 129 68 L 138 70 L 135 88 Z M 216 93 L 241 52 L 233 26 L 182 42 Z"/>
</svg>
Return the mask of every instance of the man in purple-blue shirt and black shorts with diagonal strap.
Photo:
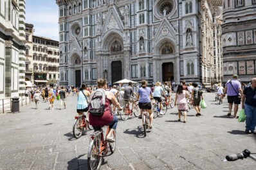
<svg viewBox="0 0 256 170">
<path fill-rule="evenodd" d="M 231 115 L 232 107 L 234 103 L 233 108 L 233 117 L 238 118 L 237 110 L 238 105 L 241 104 L 241 96 L 242 96 L 242 89 L 241 89 L 241 83 L 237 81 L 237 74 L 233 74 L 233 79 L 226 82 L 224 94 L 228 96 L 228 116 Z M 239 95 L 240 92 L 240 95 Z"/>
</svg>

